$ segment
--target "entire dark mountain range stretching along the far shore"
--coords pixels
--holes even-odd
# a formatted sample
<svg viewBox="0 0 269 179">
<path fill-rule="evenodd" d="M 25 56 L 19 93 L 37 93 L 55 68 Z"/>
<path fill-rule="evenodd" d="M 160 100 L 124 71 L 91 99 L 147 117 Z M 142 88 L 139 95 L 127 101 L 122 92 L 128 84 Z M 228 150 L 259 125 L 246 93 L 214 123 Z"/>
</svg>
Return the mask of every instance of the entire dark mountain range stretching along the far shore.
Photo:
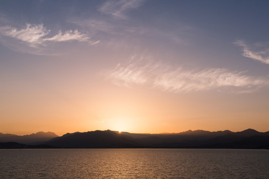
<svg viewBox="0 0 269 179">
<path fill-rule="evenodd" d="M 46 136 L 47 140 L 42 141 L 42 139 L 45 139 L 45 137 L 36 138 L 34 140 L 34 137 L 42 136 L 41 134 Z M 180 133 L 136 134 L 111 130 L 96 130 L 89 132 L 67 133 L 61 137 L 51 132 L 38 132 L 36 134 L 25 136 L 0 133 L 0 142 L 2 142 L 0 143 L 0 148 L 269 149 L 269 131 L 258 132 L 254 129 L 247 129 L 241 132 L 232 132 L 229 130 L 217 132 L 188 130 Z M 7 144 L 6 142 L 9 142 L 10 144 Z M 14 142 L 22 144 L 20 145 Z"/>
</svg>

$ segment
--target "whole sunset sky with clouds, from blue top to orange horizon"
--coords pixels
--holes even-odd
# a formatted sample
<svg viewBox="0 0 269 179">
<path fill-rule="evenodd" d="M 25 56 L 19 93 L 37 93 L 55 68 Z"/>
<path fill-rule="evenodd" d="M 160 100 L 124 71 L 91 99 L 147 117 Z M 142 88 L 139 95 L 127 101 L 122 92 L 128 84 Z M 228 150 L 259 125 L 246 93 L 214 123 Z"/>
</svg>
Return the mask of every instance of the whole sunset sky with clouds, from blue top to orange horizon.
<svg viewBox="0 0 269 179">
<path fill-rule="evenodd" d="M 269 131 L 267 0 L 0 0 L 0 132 Z"/>
</svg>

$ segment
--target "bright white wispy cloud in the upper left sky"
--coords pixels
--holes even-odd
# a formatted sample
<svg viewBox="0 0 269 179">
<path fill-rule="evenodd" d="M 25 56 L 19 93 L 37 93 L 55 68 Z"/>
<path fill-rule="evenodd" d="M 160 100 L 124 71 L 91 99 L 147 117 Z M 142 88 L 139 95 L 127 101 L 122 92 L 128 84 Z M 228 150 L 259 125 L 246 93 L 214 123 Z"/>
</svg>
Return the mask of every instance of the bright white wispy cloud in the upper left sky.
<svg viewBox="0 0 269 179">
<path fill-rule="evenodd" d="M 46 46 L 47 42 L 66 42 L 72 40 L 83 42 L 89 41 L 90 39 L 90 37 L 78 30 L 69 30 L 64 33 L 59 31 L 58 34 L 53 37 L 46 38 L 49 33 L 50 30 L 45 28 L 43 24 L 26 24 L 26 27 L 21 29 L 10 26 L 0 27 L 0 34 L 2 36 L 20 40 L 34 48 L 38 48 L 40 45 Z"/>
</svg>

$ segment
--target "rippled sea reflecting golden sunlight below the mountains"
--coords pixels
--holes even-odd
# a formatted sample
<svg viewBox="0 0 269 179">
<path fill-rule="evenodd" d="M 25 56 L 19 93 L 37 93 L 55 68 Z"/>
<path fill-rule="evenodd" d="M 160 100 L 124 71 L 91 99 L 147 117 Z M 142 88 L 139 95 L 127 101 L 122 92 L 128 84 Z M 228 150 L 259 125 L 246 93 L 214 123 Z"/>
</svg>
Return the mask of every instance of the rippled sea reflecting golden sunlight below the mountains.
<svg viewBox="0 0 269 179">
<path fill-rule="evenodd" d="M 269 150 L 7 149 L 0 179 L 269 179 Z"/>
</svg>

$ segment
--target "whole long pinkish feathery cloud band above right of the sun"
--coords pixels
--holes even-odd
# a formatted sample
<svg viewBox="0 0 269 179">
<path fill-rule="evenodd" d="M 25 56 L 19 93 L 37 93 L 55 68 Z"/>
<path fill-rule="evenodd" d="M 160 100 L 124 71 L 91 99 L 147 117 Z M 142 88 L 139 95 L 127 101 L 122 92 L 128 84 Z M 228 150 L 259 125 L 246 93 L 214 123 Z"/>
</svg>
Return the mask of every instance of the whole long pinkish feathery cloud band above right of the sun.
<svg viewBox="0 0 269 179">
<path fill-rule="evenodd" d="M 252 92 L 269 85 L 268 79 L 250 77 L 245 73 L 214 68 L 189 70 L 151 62 L 146 65 L 118 64 L 108 73 L 108 79 L 118 86 L 149 84 L 152 88 L 175 93 L 208 90 Z"/>
</svg>

